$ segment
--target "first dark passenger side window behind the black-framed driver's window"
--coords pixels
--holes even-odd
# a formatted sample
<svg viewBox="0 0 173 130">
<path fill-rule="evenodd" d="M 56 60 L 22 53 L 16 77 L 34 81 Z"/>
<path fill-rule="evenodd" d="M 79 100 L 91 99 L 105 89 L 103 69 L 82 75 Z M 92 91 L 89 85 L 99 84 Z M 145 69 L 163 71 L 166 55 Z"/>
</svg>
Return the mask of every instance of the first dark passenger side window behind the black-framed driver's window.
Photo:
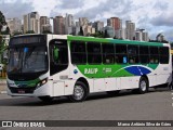
<svg viewBox="0 0 173 130">
<path fill-rule="evenodd" d="M 86 64 L 85 42 L 72 41 L 70 50 L 72 64 Z"/>
</svg>

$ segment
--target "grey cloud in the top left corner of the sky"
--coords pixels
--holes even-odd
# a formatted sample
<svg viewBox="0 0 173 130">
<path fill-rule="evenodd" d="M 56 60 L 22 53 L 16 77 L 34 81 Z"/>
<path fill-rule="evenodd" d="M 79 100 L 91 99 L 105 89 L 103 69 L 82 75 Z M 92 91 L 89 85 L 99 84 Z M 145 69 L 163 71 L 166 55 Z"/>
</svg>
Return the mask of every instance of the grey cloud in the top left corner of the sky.
<svg viewBox="0 0 173 130">
<path fill-rule="evenodd" d="M 4 14 L 5 18 L 18 17 L 22 18 L 24 14 L 34 11 L 31 2 L 23 2 L 19 0 L 13 1 L 0 1 L 0 10 Z"/>
</svg>

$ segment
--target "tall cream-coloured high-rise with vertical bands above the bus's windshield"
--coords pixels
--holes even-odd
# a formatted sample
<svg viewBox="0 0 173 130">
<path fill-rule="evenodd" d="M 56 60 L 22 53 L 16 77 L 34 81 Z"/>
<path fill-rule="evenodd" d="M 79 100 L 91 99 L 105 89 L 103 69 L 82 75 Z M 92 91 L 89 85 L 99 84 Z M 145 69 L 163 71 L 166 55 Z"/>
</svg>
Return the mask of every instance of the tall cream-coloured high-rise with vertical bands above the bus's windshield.
<svg viewBox="0 0 173 130">
<path fill-rule="evenodd" d="M 40 34 L 40 16 L 38 12 L 31 12 L 24 15 L 24 32 L 28 30 Z"/>
</svg>

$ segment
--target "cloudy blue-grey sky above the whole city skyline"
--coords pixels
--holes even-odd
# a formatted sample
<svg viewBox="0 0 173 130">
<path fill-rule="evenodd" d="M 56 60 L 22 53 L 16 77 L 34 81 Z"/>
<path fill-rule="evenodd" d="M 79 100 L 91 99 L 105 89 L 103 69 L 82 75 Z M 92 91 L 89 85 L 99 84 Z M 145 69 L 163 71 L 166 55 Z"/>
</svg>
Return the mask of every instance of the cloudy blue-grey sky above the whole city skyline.
<svg viewBox="0 0 173 130">
<path fill-rule="evenodd" d="M 162 32 L 173 41 L 173 1 L 172 0 L 0 0 L 0 11 L 6 18 L 19 17 L 32 11 L 40 16 L 54 17 L 72 14 L 76 20 L 103 21 L 119 17 L 123 26 L 132 21 L 136 28 L 144 28 L 155 39 Z"/>
</svg>

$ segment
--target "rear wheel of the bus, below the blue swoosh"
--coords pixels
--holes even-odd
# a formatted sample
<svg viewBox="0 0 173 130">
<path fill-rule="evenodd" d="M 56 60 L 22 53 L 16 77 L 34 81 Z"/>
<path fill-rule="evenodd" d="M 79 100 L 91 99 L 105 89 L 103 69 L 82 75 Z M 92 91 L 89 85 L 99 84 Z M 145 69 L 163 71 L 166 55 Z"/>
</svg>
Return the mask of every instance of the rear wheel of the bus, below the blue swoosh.
<svg viewBox="0 0 173 130">
<path fill-rule="evenodd" d="M 141 77 L 138 82 L 138 93 L 144 94 L 148 91 L 148 80 L 145 77 Z"/>
</svg>

